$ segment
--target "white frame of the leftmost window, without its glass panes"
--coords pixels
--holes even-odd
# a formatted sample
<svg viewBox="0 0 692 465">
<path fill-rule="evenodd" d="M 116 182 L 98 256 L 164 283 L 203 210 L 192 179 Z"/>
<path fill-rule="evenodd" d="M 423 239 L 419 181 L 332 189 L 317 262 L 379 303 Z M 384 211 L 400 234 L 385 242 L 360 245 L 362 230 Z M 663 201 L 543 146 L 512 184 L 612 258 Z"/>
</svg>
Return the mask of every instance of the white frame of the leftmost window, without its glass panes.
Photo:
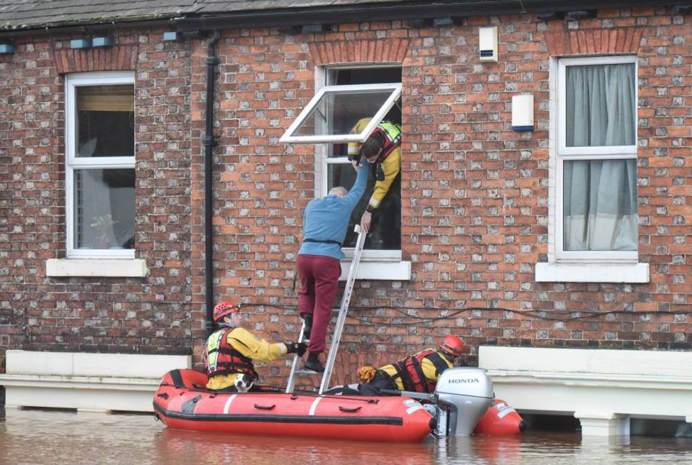
<svg viewBox="0 0 692 465">
<path fill-rule="evenodd" d="M 134 72 L 87 72 L 65 77 L 65 221 L 67 258 L 134 258 L 134 249 L 75 248 L 75 170 L 135 168 L 131 157 L 77 157 L 77 87 L 135 83 Z"/>
</svg>

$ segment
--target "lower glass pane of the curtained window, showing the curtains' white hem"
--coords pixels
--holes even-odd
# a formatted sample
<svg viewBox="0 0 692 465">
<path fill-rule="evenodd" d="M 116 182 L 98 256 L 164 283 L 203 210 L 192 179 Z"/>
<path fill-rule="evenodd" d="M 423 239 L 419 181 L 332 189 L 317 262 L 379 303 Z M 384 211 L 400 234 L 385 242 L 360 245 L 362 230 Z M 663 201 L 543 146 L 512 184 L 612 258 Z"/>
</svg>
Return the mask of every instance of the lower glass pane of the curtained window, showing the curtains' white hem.
<svg viewBox="0 0 692 465">
<path fill-rule="evenodd" d="M 564 250 L 637 250 L 635 160 L 564 162 Z"/>
</svg>

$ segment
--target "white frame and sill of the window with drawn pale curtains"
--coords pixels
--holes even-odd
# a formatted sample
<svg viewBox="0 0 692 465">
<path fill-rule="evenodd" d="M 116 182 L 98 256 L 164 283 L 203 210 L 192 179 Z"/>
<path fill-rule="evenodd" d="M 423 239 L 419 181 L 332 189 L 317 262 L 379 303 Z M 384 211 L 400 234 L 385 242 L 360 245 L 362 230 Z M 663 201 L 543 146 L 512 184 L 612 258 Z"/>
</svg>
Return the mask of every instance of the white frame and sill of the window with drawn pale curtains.
<svg viewBox="0 0 692 465">
<path fill-rule="evenodd" d="M 637 143 L 632 146 L 566 146 L 566 67 L 631 63 L 637 75 L 637 57 L 610 55 L 580 58 L 553 58 L 550 81 L 549 163 L 549 250 L 548 263 L 537 263 L 536 280 L 541 282 L 648 283 L 648 263 L 638 263 L 638 251 L 564 250 L 564 163 L 569 160 L 637 159 Z M 638 89 L 635 89 L 637 102 Z M 637 118 L 632 121 L 637 133 Z"/>
</svg>

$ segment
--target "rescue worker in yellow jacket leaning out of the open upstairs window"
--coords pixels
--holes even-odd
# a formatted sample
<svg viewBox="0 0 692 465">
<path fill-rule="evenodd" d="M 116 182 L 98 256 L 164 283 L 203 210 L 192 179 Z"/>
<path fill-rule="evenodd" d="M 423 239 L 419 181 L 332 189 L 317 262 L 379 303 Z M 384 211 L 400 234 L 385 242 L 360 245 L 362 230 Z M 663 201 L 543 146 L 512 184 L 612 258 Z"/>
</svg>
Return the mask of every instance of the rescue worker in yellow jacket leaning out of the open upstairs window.
<svg viewBox="0 0 692 465">
<path fill-rule="evenodd" d="M 369 122 L 370 118 L 358 120 L 351 133 L 362 132 Z M 375 170 L 373 194 L 361 217 L 363 230 L 369 232 L 373 228 L 375 239 L 370 243 L 381 242 L 374 248 L 401 246 L 401 136 L 400 124 L 381 121 L 365 142 L 348 144 L 348 160 L 354 168 L 365 157 Z"/>
</svg>

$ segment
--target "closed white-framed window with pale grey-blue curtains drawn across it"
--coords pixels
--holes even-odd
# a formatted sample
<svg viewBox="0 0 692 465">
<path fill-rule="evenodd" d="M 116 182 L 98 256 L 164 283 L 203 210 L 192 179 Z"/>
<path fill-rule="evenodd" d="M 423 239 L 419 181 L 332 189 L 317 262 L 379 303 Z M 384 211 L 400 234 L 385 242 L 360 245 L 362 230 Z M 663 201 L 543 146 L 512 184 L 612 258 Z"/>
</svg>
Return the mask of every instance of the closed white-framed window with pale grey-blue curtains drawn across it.
<svg viewBox="0 0 692 465">
<path fill-rule="evenodd" d="M 549 261 L 636 264 L 636 57 L 561 59 L 556 71 Z"/>
</svg>

